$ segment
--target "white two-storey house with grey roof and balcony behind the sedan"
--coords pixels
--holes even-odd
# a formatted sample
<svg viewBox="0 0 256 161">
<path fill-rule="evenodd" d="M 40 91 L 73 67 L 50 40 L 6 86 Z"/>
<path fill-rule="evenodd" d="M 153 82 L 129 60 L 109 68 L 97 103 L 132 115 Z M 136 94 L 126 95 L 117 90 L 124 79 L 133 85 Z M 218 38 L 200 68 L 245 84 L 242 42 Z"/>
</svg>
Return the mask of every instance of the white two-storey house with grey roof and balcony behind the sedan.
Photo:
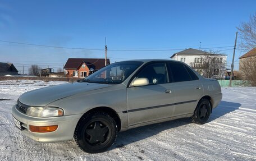
<svg viewBox="0 0 256 161">
<path fill-rule="evenodd" d="M 174 53 L 171 56 L 171 59 L 184 62 L 190 67 L 192 67 L 196 72 L 200 73 L 200 75 L 203 75 L 204 70 L 209 68 L 209 65 L 206 63 L 206 61 L 204 61 L 205 56 L 214 57 L 214 61 L 216 63 L 225 63 L 226 65 L 226 54 L 212 54 L 192 48 L 182 50 L 178 53 Z M 211 77 L 222 78 L 224 75 L 225 70 L 223 71 L 223 69 L 214 68 L 213 76 Z"/>
</svg>

